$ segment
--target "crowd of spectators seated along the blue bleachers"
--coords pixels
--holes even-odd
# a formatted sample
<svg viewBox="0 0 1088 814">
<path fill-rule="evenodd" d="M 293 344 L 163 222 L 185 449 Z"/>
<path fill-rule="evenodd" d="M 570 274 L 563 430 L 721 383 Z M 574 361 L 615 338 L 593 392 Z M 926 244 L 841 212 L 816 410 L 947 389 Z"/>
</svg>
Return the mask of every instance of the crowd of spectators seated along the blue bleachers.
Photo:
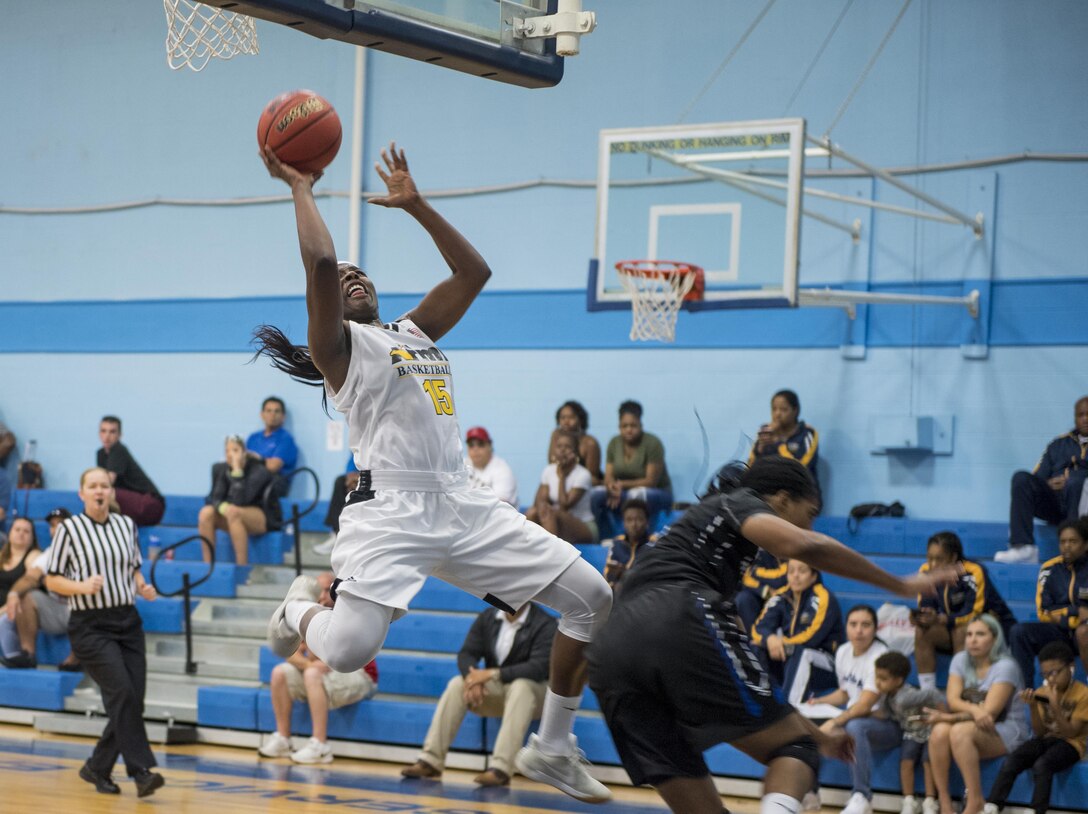
<svg viewBox="0 0 1088 814">
<path fill-rule="evenodd" d="M 818 433 L 800 419 L 795 393 L 775 393 L 770 421 L 762 425 L 750 461 L 764 456 L 799 460 L 816 474 Z M 605 577 L 622 590 L 625 574 L 639 554 L 655 544 L 654 525 L 672 506 L 671 481 L 662 441 L 643 430 L 642 406 L 619 406 L 618 433 L 602 446 L 589 434 L 589 415 L 578 402 L 556 412 L 547 464 L 527 519 L 578 544 L 608 547 Z M 234 559 L 248 562 L 250 535 L 277 529 L 279 498 L 289 488 L 298 449 L 283 427 L 283 402 L 269 397 L 261 407 L 263 430 L 248 440 L 231 435 L 224 460 L 211 468 L 206 506 L 199 513 L 201 535 L 214 542 L 226 531 Z M 942 531 L 929 538 L 923 570 L 955 566 L 960 579 L 937 595 L 918 597 L 911 610 L 913 646 L 889 648 L 877 634 L 873 607 L 855 605 L 843 616 L 819 571 L 800 560 L 778 562 L 761 552 L 743 579 L 737 614 L 750 631 L 758 657 L 798 708 L 826 730 L 845 729 L 856 744 L 848 814 L 870 814 L 874 754 L 900 749 L 904 814 L 951 814 L 953 764 L 964 778 L 966 814 L 996 814 L 1018 774 L 1030 770 L 1033 809 L 1049 805 L 1054 775 L 1075 765 L 1088 739 L 1088 687 L 1074 678 L 1076 658 L 1088 669 L 1088 397 L 1077 402 L 1074 430 L 1055 439 L 1033 472 L 1012 480 L 1010 550 L 1002 562 L 1037 557 L 1034 517 L 1061 523 L 1060 555 L 1039 569 L 1037 619 L 1017 620 L 985 565 L 968 558 L 960 538 Z M 138 525 L 161 520 L 165 502 L 154 483 L 121 442 L 122 423 L 104 417 L 99 427 L 98 465 L 114 488 L 116 508 Z M 0 424 L 0 464 L 10 457 L 14 436 Z M 482 427 L 466 433 L 467 465 L 473 482 L 518 505 L 518 484 L 509 465 L 495 454 Z M 330 539 L 317 547 L 329 554 L 339 510 L 359 481 L 349 458 L 333 488 L 326 525 Z M 0 484 L 4 485 L 4 484 Z M 0 497 L 3 497 L 0 495 Z M 0 510 L 7 501 L 0 499 Z M 50 514 L 60 521 L 66 513 Z M 0 522 L 4 515 L 0 514 Z M 66 629 L 66 604 L 41 587 L 40 551 L 34 523 L 9 518 L 0 548 L 0 656 L 12 668 L 34 667 L 39 630 Z M 207 552 L 206 552 L 207 557 Z M 332 575 L 322 578 L 322 603 L 331 606 Z M 555 621 L 535 606 L 509 614 L 480 614 L 458 653 L 458 674 L 443 693 L 426 740 L 407 777 L 437 777 L 466 712 L 503 717 L 491 768 L 475 778 L 482 786 L 507 785 L 512 756 L 539 715 L 547 676 L 547 653 Z M 938 654 L 952 656 L 947 687 L 937 686 Z M 907 683 L 913 654 L 918 686 Z M 482 664 L 482 666 L 481 666 Z M 1036 686 L 1036 667 L 1042 681 Z M 78 669 L 71 657 L 61 669 Z M 299 763 L 332 760 L 327 713 L 372 696 L 378 688 L 374 663 L 341 676 L 314 659 L 305 646 L 272 674 L 276 731 L 260 753 L 290 756 Z M 313 737 L 300 750 L 290 743 L 290 707 L 306 701 Z M 1002 758 L 992 787 L 981 786 L 980 762 Z M 922 764 L 925 794 L 915 793 Z M 819 807 L 818 789 L 804 810 Z"/>
</svg>

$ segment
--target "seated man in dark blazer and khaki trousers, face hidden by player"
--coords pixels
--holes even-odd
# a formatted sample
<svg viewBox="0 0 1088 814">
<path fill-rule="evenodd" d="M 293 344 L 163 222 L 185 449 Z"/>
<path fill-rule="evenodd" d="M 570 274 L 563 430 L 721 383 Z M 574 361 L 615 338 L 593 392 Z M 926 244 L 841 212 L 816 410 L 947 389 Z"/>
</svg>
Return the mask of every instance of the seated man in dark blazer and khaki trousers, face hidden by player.
<svg viewBox="0 0 1088 814">
<path fill-rule="evenodd" d="M 475 782 L 508 785 L 514 774 L 514 757 L 526 740 L 529 725 L 540 717 L 544 705 L 556 627 L 556 620 L 532 603 L 523 605 L 517 614 L 494 608 L 481 613 L 457 654 L 458 675 L 449 680 L 438 700 L 423 751 L 400 774 L 440 777 L 465 713 L 471 710 L 483 717 L 503 719 L 491 767 L 477 775 Z"/>
</svg>

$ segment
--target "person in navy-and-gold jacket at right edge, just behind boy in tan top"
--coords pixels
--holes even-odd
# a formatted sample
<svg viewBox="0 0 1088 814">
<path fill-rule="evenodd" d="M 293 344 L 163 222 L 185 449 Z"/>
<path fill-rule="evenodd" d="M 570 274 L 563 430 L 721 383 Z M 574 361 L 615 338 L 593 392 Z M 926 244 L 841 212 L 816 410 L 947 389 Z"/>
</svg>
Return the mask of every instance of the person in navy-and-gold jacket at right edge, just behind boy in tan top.
<svg viewBox="0 0 1088 814">
<path fill-rule="evenodd" d="M 1088 518 L 1066 520 L 1058 529 L 1053 559 L 1039 568 L 1035 607 L 1039 621 L 1022 621 L 1013 628 L 1009 646 L 1021 666 L 1024 683 L 1035 680 L 1035 654 L 1050 642 L 1065 642 L 1080 653 L 1088 667 Z"/>
</svg>

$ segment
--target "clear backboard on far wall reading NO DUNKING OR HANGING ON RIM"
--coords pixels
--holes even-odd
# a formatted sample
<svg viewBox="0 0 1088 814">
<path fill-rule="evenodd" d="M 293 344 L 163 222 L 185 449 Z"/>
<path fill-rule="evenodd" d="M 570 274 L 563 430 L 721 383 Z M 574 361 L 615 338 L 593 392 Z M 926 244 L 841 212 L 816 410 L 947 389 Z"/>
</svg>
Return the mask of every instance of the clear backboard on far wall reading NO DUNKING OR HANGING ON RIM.
<svg viewBox="0 0 1088 814">
<path fill-rule="evenodd" d="M 630 307 L 615 266 L 705 270 L 688 310 L 798 304 L 803 119 L 604 130 L 588 307 Z"/>
</svg>

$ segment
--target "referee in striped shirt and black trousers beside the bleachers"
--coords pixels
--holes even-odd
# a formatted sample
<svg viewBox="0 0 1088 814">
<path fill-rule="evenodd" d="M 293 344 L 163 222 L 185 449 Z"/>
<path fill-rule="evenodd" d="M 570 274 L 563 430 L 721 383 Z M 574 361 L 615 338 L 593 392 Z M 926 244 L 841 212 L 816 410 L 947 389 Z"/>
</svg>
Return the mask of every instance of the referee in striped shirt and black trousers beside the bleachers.
<svg viewBox="0 0 1088 814">
<path fill-rule="evenodd" d="M 102 794 L 120 794 L 110 777 L 118 755 L 136 781 L 137 797 L 161 788 L 144 728 L 147 656 L 144 626 L 134 602 L 156 597 L 139 571 L 140 554 L 132 518 L 110 514 L 113 488 L 104 469 L 79 478 L 83 514 L 64 520 L 53 536 L 46 588 L 69 597 L 72 652 L 98 683 L 109 723 L 79 777 Z"/>
</svg>

